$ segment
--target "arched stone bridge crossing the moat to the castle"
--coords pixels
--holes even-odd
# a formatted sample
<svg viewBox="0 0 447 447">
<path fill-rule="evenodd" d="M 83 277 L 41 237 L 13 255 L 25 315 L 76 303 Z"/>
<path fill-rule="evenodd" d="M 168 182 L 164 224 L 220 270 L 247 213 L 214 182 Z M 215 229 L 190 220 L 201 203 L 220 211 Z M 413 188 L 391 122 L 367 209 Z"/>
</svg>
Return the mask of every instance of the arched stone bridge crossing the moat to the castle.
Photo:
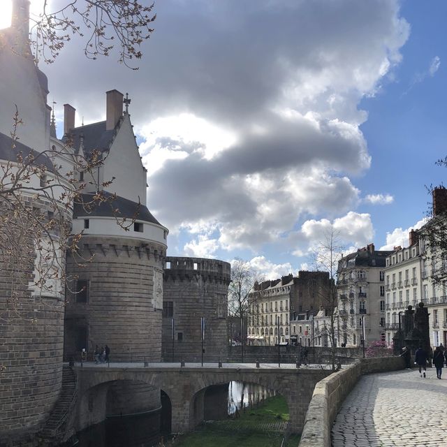
<svg viewBox="0 0 447 447">
<path fill-rule="evenodd" d="M 167 363 L 149 364 L 149 367 L 127 365 L 111 363 L 110 367 L 91 364 L 77 367 L 78 414 L 92 412 L 95 400 L 104 401 L 104 397 L 98 393 L 99 389 L 104 388 L 102 385 L 115 381 L 133 381 L 163 390 L 171 402 L 172 431 L 188 432 L 203 420 L 203 397 L 208 387 L 241 381 L 256 383 L 283 395 L 288 404 L 291 431 L 300 433 L 315 384 L 330 374 L 330 371 L 322 369 L 296 369 L 295 365 L 284 365 L 281 368 L 265 364 L 261 368 L 247 364 L 223 364 L 221 368 L 200 367 L 200 364 L 187 364 L 186 367 Z M 100 406 L 101 402 L 98 402 L 96 407 Z M 85 422 L 82 425 L 98 422 L 91 416 L 89 422 L 85 416 L 83 419 Z"/>
</svg>

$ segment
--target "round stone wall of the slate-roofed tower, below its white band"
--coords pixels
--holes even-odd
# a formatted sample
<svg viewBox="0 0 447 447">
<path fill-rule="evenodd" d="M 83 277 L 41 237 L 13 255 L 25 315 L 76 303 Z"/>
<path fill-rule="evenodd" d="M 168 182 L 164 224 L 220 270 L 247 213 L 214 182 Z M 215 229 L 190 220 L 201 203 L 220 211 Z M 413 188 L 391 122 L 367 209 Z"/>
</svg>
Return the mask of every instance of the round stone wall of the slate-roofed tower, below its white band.
<svg viewBox="0 0 447 447">
<path fill-rule="evenodd" d="M 67 273 L 78 277 L 66 303 L 66 356 L 92 358 L 95 345 L 107 344 L 113 361 L 161 358 L 162 266 L 166 247 L 119 237 L 82 237 L 80 259 L 68 256 Z M 82 302 L 85 300 L 85 302 Z M 85 346 L 84 346 L 85 345 Z"/>
</svg>

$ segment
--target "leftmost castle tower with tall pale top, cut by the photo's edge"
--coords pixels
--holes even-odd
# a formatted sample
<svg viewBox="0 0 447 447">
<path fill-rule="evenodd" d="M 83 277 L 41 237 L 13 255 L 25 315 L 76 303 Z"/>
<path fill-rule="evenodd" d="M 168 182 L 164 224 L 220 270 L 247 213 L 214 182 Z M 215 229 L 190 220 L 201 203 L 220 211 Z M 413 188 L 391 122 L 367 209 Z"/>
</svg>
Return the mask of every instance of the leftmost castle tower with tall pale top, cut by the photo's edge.
<svg viewBox="0 0 447 447">
<path fill-rule="evenodd" d="M 28 20 L 29 1 L 15 0 L 12 26 L 0 30 L 2 169 L 17 162 L 19 152 L 23 157 L 34 154 L 36 158 L 39 152 L 58 144 L 50 139 L 47 78 L 31 57 Z M 17 129 L 19 140 L 14 147 L 10 132 L 16 106 L 24 125 Z M 53 166 L 52 159 L 43 155 L 40 159 L 51 163 L 45 166 Z M 47 222 L 54 208 L 26 186 L 38 186 L 39 181 L 31 175 L 18 193 L 23 209 L 33 210 Z M 7 201 L 1 200 L 1 217 L 7 213 Z M 66 210 L 66 217 L 71 219 L 71 210 Z M 1 233 L 5 237 L 7 228 L 2 228 Z M 61 390 L 64 287 L 61 281 L 54 281 L 51 288 L 36 286 L 41 259 L 32 248 L 36 240 L 29 227 L 17 227 L 10 236 L 15 249 L 10 256 L 0 258 L 0 444 L 17 446 L 35 438 Z M 57 236 L 52 235 L 53 240 Z M 59 273 L 64 269 L 64 261 L 60 261 Z"/>
</svg>

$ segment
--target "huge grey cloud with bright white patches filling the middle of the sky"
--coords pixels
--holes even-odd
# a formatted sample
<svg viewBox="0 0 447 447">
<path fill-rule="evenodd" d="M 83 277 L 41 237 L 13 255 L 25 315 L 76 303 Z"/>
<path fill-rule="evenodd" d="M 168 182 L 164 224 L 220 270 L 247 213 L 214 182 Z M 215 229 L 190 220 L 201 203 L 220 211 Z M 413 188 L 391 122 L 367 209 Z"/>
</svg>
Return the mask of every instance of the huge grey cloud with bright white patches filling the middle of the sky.
<svg viewBox="0 0 447 447">
<path fill-rule="evenodd" d="M 302 219 L 355 210 L 351 176 L 371 163 L 359 104 L 402 58 L 400 1 L 166 1 L 156 12 L 138 72 L 67 50 L 48 74 L 55 100 L 86 122 L 104 113 L 103 91 L 129 91 L 149 209 L 171 234 L 195 235 L 185 250 L 259 249 Z M 350 237 L 361 240 L 355 225 Z"/>
</svg>

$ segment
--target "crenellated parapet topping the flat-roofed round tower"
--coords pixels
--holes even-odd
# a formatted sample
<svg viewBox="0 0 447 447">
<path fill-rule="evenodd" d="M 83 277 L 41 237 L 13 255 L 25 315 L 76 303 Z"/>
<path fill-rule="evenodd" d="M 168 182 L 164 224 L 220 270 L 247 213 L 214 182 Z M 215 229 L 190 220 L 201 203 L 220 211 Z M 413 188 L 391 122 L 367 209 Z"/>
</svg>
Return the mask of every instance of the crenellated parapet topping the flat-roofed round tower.
<svg viewBox="0 0 447 447">
<path fill-rule="evenodd" d="M 167 256 L 164 268 L 165 281 L 202 281 L 230 284 L 231 265 L 225 261 L 207 258 Z"/>
</svg>

